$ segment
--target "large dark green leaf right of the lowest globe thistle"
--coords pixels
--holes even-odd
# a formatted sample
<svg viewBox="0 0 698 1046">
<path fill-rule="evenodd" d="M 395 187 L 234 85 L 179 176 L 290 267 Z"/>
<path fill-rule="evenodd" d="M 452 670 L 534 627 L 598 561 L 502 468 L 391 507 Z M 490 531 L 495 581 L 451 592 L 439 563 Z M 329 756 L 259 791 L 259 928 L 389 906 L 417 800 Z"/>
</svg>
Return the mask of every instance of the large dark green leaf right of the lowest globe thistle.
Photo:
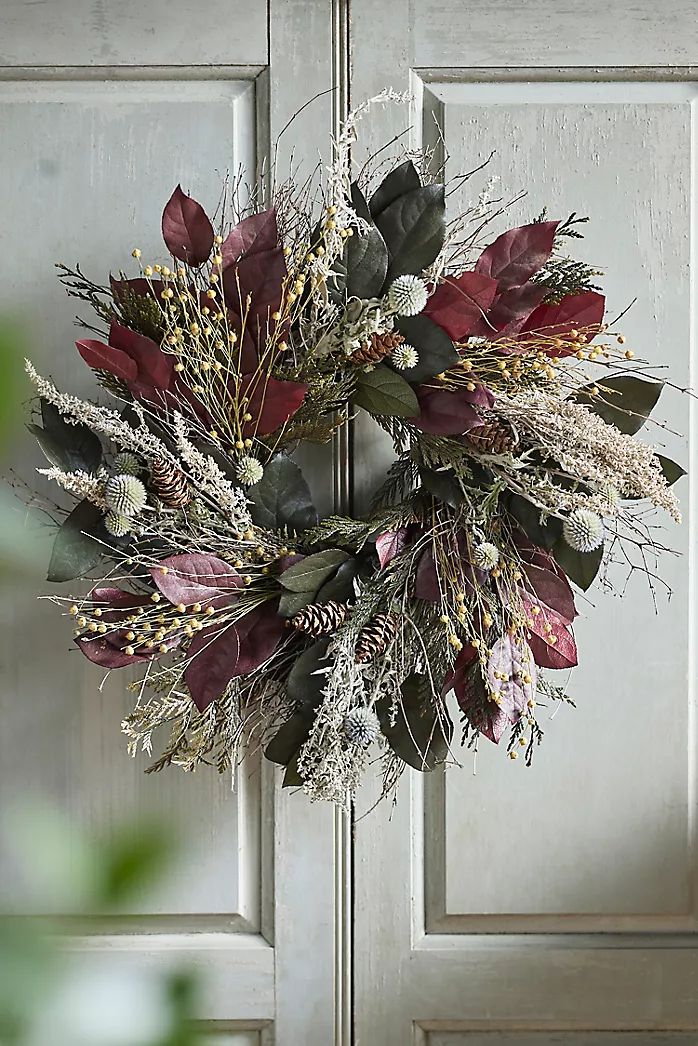
<svg viewBox="0 0 698 1046">
<path fill-rule="evenodd" d="M 440 720 L 429 686 L 429 680 L 420 673 L 412 673 L 402 684 L 402 701 L 398 718 L 390 725 L 390 706 L 385 699 L 378 702 L 376 712 L 381 730 L 388 745 L 401 759 L 415 770 L 433 770 L 443 763 L 453 733 L 453 726 Z M 447 736 L 444 736 L 444 728 Z"/>
</svg>

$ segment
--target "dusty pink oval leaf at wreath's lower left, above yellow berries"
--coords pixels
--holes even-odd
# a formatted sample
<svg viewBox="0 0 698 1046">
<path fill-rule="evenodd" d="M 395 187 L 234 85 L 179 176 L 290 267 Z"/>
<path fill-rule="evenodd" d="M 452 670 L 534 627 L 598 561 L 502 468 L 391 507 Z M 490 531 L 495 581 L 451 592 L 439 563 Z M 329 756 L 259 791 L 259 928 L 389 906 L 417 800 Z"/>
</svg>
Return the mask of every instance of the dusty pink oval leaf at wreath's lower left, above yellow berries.
<svg viewBox="0 0 698 1046">
<path fill-rule="evenodd" d="M 166 573 L 162 572 L 166 569 Z M 161 560 L 151 575 L 173 606 L 200 602 L 202 607 L 225 607 L 242 587 L 238 572 L 225 560 L 204 552 L 184 552 Z"/>
</svg>

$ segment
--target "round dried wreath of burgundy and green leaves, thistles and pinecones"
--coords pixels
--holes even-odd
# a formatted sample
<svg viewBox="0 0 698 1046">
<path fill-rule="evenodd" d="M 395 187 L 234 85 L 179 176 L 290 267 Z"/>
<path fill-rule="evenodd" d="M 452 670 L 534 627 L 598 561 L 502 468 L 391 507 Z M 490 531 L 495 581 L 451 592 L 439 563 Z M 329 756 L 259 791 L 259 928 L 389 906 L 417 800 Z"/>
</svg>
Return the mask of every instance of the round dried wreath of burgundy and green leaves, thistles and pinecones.
<svg viewBox="0 0 698 1046">
<path fill-rule="evenodd" d="M 106 403 L 27 363 L 39 472 L 76 501 L 52 510 L 49 581 L 90 578 L 55 596 L 75 643 L 140 669 L 129 750 L 167 726 L 151 770 L 225 771 L 263 746 L 340 803 L 376 757 L 386 791 L 444 761 L 456 708 L 471 745 L 530 761 L 577 664 L 575 589 L 616 547 L 659 551 L 648 503 L 678 521 L 683 475 L 634 438 L 661 384 L 567 256 L 586 220 L 485 246 L 501 208 L 447 218 L 424 157 L 352 181 L 363 111 L 321 206 L 289 182 L 217 231 L 178 186 L 167 264 L 136 249 L 108 288 L 61 267 L 104 328 L 76 344 Z M 318 520 L 291 454 L 357 409 L 395 463 L 367 515 Z"/>
</svg>

